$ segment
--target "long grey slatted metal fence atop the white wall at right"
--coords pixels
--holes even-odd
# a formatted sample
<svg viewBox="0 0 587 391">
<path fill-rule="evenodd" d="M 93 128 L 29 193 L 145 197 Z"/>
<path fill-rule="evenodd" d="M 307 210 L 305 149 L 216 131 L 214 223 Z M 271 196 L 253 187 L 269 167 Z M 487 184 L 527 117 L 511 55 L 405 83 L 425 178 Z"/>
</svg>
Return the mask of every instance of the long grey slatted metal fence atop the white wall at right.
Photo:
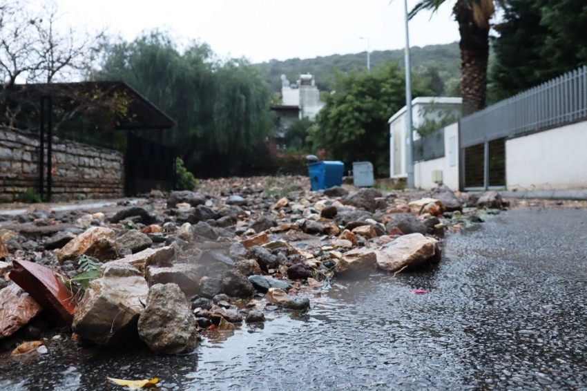
<svg viewBox="0 0 587 391">
<path fill-rule="evenodd" d="M 587 118 L 587 66 L 461 119 L 461 148 Z"/>
</svg>

